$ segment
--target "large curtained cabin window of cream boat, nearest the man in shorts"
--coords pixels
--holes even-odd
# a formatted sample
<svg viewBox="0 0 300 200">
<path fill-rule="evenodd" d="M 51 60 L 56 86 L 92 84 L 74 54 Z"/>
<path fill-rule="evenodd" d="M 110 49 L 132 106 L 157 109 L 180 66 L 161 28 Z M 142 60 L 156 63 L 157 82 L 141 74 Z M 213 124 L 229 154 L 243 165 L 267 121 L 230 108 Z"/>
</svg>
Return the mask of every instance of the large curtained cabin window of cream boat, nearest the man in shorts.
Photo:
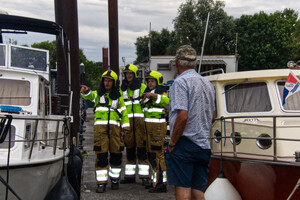
<svg viewBox="0 0 300 200">
<path fill-rule="evenodd" d="M 266 83 L 241 83 L 225 86 L 229 113 L 269 112 L 272 105 Z"/>
</svg>

